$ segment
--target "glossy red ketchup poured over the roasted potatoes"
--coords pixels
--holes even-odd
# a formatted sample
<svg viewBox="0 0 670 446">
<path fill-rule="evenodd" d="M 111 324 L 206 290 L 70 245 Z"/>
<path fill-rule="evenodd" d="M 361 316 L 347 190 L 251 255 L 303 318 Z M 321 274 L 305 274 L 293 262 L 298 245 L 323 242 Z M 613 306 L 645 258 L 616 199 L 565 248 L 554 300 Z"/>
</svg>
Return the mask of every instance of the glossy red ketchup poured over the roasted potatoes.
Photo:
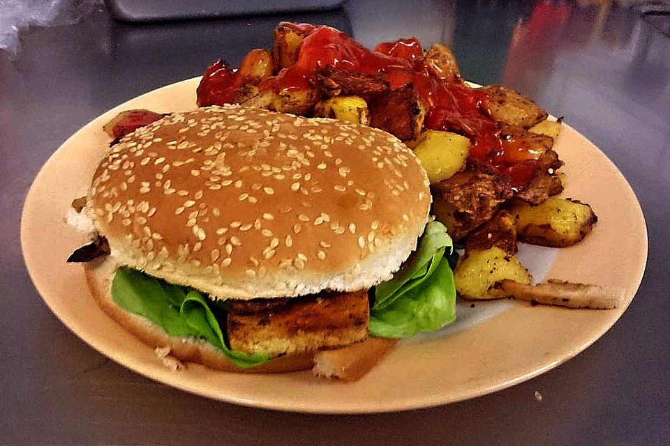
<svg viewBox="0 0 670 446">
<path fill-rule="evenodd" d="M 301 44 L 295 65 L 261 82 L 261 91 L 282 93 L 311 89 L 311 78 L 325 66 L 381 75 L 392 89 L 413 84 L 426 105 L 426 128 L 466 135 L 472 141 L 470 157 L 488 162 L 509 174 L 516 190 L 533 178 L 541 153 L 533 153 L 520 141 L 501 139 L 500 129 L 488 113 L 489 96 L 463 82 L 440 79 L 438 73 L 424 61 L 423 49 L 415 38 L 380 43 L 371 51 L 345 33 L 328 26 L 310 26 L 302 31 L 308 36 Z M 226 102 L 232 102 L 234 92 L 239 88 L 239 79 L 230 77 L 226 70 L 230 72 L 225 64 L 218 68 L 211 66 L 205 77 L 220 78 L 222 84 L 218 88 L 218 96 L 225 96 Z M 227 76 L 228 86 L 224 86 Z M 200 87 L 198 98 L 202 106 Z"/>
</svg>

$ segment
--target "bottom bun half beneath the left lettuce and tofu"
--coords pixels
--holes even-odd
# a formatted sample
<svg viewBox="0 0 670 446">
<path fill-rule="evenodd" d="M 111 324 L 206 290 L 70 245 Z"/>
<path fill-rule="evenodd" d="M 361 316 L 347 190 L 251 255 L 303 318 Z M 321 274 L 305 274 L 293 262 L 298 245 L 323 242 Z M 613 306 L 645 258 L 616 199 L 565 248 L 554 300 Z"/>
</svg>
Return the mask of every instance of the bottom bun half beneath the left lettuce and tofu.
<svg viewBox="0 0 670 446">
<path fill-rule="evenodd" d="M 170 336 L 161 327 L 147 318 L 138 316 L 119 307 L 112 299 L 112 278 L 117 270 L 117 264 L 112 257 L 105 256 L 94 261 L 84 263 L 84 272 L 94 296 L 101 309 L 123 328 L 139 338 L 144 344 L 154 348 L 170 348 L 170 355 L 184 362 L 202 364 L 211 369 L 245 373 L 278 373 L 311 369 L 314 365 L 313 352 L 299 353 L 276 357 L 264 364 L 248 369 L 241 369 L 230 362 L 225 355 L 207 341 L 195 338 Z M 167 347 L 167 348 L 166 348 Z"/>
</svg>

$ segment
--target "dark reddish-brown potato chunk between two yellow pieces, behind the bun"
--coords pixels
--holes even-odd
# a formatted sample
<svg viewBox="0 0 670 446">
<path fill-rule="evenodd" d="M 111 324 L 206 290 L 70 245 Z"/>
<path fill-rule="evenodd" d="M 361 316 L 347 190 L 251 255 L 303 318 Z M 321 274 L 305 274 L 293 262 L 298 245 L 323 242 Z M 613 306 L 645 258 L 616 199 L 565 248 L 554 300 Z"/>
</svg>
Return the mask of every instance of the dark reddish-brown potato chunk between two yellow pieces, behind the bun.
<svg viewBox="0 0 670 446">
<path fill-rule="evenodd" d="M 412 85 L 391 91 L 370 102 L 370 125 L 401 141 L 417 139 L 424 125 L 426 109 Z"/>
</svg>

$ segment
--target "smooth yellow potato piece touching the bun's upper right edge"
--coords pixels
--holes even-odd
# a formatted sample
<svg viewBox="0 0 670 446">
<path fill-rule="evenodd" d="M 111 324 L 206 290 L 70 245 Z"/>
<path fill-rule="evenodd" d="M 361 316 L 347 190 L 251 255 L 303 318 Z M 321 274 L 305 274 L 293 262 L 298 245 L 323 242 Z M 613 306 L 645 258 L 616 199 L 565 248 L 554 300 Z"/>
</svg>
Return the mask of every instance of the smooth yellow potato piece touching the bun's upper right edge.
<svg viewBox="0 0 670 446">
<path fill-rule="evenodd" d="M 470 139 L 438 130 L 422 132 L 412 145 L 431 184 L 446 180 L 462 170 L 470 152 Z"/>
</svg>

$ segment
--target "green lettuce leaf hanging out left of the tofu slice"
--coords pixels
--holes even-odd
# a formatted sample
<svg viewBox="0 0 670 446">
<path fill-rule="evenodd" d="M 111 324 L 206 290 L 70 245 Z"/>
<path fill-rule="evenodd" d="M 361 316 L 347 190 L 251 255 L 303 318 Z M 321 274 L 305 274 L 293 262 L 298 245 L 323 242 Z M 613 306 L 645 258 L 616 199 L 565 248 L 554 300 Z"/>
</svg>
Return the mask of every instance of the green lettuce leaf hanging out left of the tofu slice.
<svg viewBox="0 0 670 446">
<path fill-rule="evenodd" d="M 207 339 L 238 367 L 253 367 L 270 359 L 269 355 L 228 348 L 208 300 L 195 289 L 168 284 L 131 268 L 119 268 L 112 280 L 112 299 L 172 336 Z"/>
</svg>

